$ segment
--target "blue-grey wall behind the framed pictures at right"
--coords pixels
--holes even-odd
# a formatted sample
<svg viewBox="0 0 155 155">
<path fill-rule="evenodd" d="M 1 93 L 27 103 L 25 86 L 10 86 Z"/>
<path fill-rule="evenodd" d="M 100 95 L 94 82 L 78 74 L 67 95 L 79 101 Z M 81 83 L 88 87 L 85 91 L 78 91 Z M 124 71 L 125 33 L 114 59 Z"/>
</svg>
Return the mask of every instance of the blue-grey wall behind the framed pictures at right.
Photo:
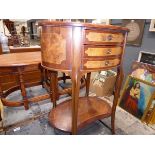
<svg viewBox="0 0 155 155">
<path fill-rule="evenodd" d="M 130 67 L 133 61 L 138 59 L 139 51 L 147 51 L 155 53 L 155 32 L 149 32 L 150 21 L 147 19 L 145 21 L 144 34 L 142 39 L 142 44 L 140 47 L 136 46 L 126 46 L 125 55 L 124 55 L 124 73 L 127 76 L 130 72 Z M 120 25 L 122 20 L 114 19 L 112 24 Z"/>
</svg>

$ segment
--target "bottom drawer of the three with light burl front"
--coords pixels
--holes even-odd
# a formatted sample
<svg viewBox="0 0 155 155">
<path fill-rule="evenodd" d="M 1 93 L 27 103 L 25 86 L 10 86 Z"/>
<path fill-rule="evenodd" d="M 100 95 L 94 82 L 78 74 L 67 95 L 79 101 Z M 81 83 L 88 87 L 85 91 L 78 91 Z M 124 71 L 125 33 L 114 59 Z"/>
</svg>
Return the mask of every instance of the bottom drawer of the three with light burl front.
<svg viewBox="0 0 155 155">
<path fill-rule="evenodd" d="M 84 62 L 84 69 L 99 69 L 99 68 L 106 68 L 106 67 L 114 67 L 120 64 L 120 59 L 115 58 L 111 60 L 86 60 Z"/>
</svg>

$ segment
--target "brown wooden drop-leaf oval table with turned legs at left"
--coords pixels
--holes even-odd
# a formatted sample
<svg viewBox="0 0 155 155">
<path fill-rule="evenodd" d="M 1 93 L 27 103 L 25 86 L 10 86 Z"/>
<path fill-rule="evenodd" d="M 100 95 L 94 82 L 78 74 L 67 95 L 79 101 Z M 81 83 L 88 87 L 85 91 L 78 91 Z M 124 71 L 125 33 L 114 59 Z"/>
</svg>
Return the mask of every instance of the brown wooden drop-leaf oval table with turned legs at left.
<svg viewBox="0 0 155 155">
<path fill-rule="evenodd" d="M 27 87 L 40 85 L 43 82 L 42 74 L 38 74 L 38 70 L 41 69 L 40 60 L 40 52 L 0 55 L 0 97 L 4 106 L 24 105 L 25 109 L 28 109 L 30 102 L 49 98 L 49 94 L 33 98 L 28 98 L 26 94 Z M 23 99 L 21 101 L 7 100 L 6 97 L 16 90 L 21 90 Z"/>
</svg>

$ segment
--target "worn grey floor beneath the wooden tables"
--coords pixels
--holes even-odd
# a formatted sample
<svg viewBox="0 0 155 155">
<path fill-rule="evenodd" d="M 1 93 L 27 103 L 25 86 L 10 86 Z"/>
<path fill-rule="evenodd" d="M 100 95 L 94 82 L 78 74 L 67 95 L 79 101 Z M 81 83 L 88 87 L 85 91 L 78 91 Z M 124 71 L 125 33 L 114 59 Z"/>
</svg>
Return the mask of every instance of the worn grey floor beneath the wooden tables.
<svg viewBox="0 0 155 155">
<path fill-rule="evenodd" d="M 45 93 L 46 90 L 41 86 L 27 89 L 28 96 L 36 96 Z M 10 100 L 20 99 L 19 91 L 11 94 Z M 85 89 L 80 91 L 80 96 L 84 96 Z M 95 94 L 90 93 L 90 96 Z M 70 99 L 68 95 L 60 97 L 58 104 Z M 101 98 L 103 99 L 103 98 Z M 104 98 L 105 99 L 105 98 Z M 111 98 L 106 98 L 111 103 Z M 5 131 L 1 131 L 1 135 L 65 135 L 68 133 L 59 131 L 50 126 L 48 122 L 48 113 L 52 108 L 50 100 L 40 101 L 30 104 L 29 110 L 25 111 L 24 107 L 5 107 L 3 127 Z M 110 118 L 89 124 L 87 127 L 79 131 L 79 135 L 111 135 Z M 155 134 L 155 129 L 141 123 L 138 119 L 129 113 L 117 107 L 116 111 L 116 134 L 117 135 L 150 135 Z M 107 127 L 108 126 L 108 127 Z"/>
</svg>

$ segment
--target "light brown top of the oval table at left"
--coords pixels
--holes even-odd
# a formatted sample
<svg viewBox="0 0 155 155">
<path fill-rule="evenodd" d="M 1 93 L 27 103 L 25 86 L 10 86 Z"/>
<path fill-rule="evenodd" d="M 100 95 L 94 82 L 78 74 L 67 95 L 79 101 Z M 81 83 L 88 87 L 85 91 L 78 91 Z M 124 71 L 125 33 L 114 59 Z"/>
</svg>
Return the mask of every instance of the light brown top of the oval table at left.
<svg viewBox="0 0 155 155">
<path fill-rule="evenodd" d="M 41 63 L 40 51 L 0 55 L 0 67 L 26 66 L 39 63 Z"/>
</svg>

